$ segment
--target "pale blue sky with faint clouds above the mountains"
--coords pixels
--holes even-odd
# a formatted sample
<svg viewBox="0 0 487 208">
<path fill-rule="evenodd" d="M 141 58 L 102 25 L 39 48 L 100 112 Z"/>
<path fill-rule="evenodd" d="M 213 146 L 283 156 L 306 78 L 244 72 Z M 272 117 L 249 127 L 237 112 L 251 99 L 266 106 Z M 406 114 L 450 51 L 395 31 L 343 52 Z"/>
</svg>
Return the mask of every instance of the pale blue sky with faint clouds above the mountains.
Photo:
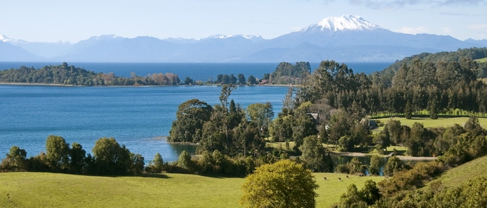
<svg viewBox="0 0 487 208">
<path fill-rule="evenodd" d="M 0 35 L 76 43 L 98 35 L 272 39 L 358 15 L 400 33 L 487 39 L 487 0 L 1 0 Z"/>
</svg>

